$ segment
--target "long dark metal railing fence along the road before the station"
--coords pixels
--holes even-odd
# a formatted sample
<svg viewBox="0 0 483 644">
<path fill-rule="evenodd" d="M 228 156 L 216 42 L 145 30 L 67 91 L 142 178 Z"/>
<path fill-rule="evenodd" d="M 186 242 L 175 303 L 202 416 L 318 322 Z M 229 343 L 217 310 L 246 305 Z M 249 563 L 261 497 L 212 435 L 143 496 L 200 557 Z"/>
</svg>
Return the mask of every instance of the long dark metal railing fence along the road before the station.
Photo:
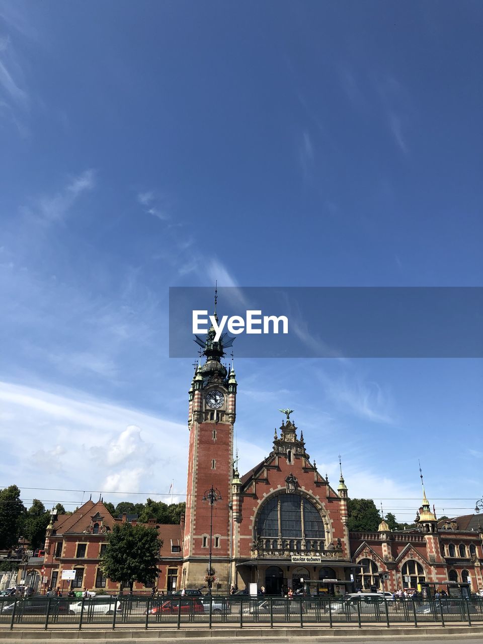
<svg viewBox="0 0 483 644">
<path fill-rule="evenodd" d="M 253 624 L 274 627 L 281 623 L 305 627 L 339 624 L 362 628 L 410 624 L 483 622 L 483 598 L 440 598 L 430 600 L 391 599 L 361 596 L 350 598 L 281 598 L 248 596 L 202 596 L 146 598 L 139 596 L 95 596 L 81 600 L 66 597 L 33 596 L 27 599 L 0 598 L 0 627 L 5 629 L 37 625 L 116 629 L 183 628 L 224 623 L 243 628 Z"/>
</svg>

